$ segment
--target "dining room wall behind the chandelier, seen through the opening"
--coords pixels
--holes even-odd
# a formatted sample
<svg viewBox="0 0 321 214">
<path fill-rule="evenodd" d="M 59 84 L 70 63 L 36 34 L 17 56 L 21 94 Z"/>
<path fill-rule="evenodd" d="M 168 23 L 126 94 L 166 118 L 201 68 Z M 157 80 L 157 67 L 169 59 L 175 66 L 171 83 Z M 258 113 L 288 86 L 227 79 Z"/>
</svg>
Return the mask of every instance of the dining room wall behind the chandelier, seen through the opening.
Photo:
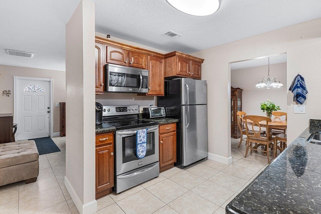
<svg viewBox="0 0 321 214">
<path fill-rule="evenodd" d="M 231 86 L 241 88 L 242 91 L 242 111 L 248 115 L 266 116 L 260 109 L 260 104 L 270 99 L 275 105 L 280 106 L 286 112 L 286 93 L 288 88 L 256 88 L 257 82 L 267 78 L 268 66 L 257 66 L 251 68 L 236 69 L 231 71 Z M 286 84 L 286 63 L 270 65 L 270 77 L 276 77 L 282 84 Z M 284 118 L 285 119 L 285 118 Z"/>
</svg>

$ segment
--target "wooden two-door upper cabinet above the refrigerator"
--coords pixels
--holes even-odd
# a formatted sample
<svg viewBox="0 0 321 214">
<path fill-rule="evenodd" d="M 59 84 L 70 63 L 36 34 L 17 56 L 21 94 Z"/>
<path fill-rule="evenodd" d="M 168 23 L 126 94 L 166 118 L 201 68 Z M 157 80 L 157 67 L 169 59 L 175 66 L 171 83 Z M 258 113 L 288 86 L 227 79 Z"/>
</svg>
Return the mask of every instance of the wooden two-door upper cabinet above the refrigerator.
<svg viewBox="0 0 321 214">
<path fill-rule="evenodd" d="M 203 59 L 181 52 L 165 54 L 165 77 L 190 77 L 201 79 Z"/>
</svg>

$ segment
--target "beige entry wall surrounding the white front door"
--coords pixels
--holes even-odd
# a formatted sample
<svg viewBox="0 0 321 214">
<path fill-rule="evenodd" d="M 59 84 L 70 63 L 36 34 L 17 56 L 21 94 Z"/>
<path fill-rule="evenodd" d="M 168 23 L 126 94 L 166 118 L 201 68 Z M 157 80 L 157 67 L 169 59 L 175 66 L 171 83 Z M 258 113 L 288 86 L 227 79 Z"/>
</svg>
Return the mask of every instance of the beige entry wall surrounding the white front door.
<svg viewBox="0 0 321 214">
<path fill-rule="evenodd" d="M 54 71 L 37 68 L 26 68 L 17 66 L 0 65 L 0 93 L 4 90 L 11 90 L 9 97 L 0 95 L 0 114 L 14 113 L 14 76 L 21 77 L 43 77 L 52 78 L 53 86 L 53 122 L 54 132 L 59 132 L 59 107 L 55 103 L 65 102 L 66 81 L 65 71 Z M 18 124 L 19 127 L 19 124 Z"/>
</svg>

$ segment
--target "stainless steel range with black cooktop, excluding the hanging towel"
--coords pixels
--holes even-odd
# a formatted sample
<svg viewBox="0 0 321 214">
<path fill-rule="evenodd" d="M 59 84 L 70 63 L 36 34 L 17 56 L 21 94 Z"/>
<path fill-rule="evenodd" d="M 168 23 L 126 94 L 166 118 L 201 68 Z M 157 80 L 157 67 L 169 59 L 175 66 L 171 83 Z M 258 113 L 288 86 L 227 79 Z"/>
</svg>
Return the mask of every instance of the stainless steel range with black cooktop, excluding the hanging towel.
<svg viewBox="0 0 321 214">
<path fill-rule="evenodd" d="M 139 119 L 138 105 L 103 106 L 102 121 L 116 127 L 115 192 L 119 193 L 159 175 L 158 125 Z M 136 132 L 147 130 L 145 157 L 136 157 Z"/>
</svg>

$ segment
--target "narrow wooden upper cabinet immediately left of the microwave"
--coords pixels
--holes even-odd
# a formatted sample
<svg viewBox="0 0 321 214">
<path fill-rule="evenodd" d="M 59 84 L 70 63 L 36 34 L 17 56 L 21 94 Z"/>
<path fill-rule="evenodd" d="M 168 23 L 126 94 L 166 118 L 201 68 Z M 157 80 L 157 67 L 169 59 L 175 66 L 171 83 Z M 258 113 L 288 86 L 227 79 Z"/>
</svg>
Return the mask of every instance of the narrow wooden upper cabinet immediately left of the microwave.
<svg viewBox="0 0 321 214">
<path fill-rule="evenodd" d="M 96 94 L 104 93 L 104 45 L 95 44 L 95 90 Z"/>
</svg>

